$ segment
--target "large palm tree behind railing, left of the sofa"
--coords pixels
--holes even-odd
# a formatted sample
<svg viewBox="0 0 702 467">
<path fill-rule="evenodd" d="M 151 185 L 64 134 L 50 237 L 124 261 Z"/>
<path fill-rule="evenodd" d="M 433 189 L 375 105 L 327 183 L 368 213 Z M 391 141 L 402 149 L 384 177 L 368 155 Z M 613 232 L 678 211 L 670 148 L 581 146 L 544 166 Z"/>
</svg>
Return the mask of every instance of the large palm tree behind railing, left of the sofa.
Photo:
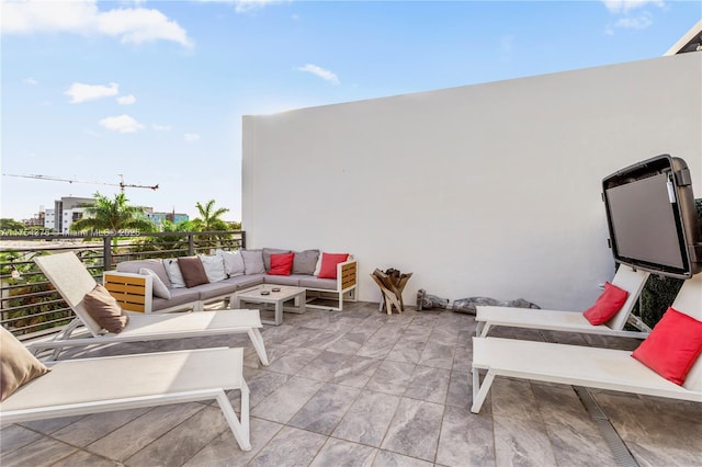
<svg viewBox="0 0 702 467">
<path fill-rule="evenodd" d="M 71 228 L 76 230 L 109 230 L 120 235 L 125 230 L 152 231 L 154 223 L 145 217 L 140 206 L 129 206 L 126 195 L 117 193 L 114 200 L 100 193 L 94 194 L 95 204 L 86 207 L 88 216 L 76 220 Z M 116 238 L 115 238 L 116 246 Z"/>
</svg>

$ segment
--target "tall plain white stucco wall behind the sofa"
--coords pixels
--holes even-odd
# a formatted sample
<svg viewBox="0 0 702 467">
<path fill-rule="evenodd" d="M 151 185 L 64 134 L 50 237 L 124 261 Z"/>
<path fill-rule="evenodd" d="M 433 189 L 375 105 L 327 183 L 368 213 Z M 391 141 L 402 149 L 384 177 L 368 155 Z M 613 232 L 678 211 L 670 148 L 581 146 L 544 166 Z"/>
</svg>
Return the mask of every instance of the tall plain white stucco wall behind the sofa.
<svg viewBox="0 0 702 467">
<path fill-rule="evenodd" d="M 249 248 L 319 248 L 456 299 L 579 310 L 611 280 L 603 176 L 686 159 L 702 197 L 702 54 L 244 117 Z"/>
</svg>

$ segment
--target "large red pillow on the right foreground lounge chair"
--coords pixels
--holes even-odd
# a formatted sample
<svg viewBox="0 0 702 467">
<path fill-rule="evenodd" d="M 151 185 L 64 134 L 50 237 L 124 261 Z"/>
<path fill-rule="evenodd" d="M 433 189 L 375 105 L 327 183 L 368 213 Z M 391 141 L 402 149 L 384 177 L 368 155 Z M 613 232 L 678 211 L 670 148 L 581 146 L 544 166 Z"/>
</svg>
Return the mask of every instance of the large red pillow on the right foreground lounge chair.
<svg viewBox="0 0 702 467">
<path fill-rule="evenodd" d="M 632 356 L 682 385 L 702 353 L 702 322 L 670 307 Z"/>
</svg>

